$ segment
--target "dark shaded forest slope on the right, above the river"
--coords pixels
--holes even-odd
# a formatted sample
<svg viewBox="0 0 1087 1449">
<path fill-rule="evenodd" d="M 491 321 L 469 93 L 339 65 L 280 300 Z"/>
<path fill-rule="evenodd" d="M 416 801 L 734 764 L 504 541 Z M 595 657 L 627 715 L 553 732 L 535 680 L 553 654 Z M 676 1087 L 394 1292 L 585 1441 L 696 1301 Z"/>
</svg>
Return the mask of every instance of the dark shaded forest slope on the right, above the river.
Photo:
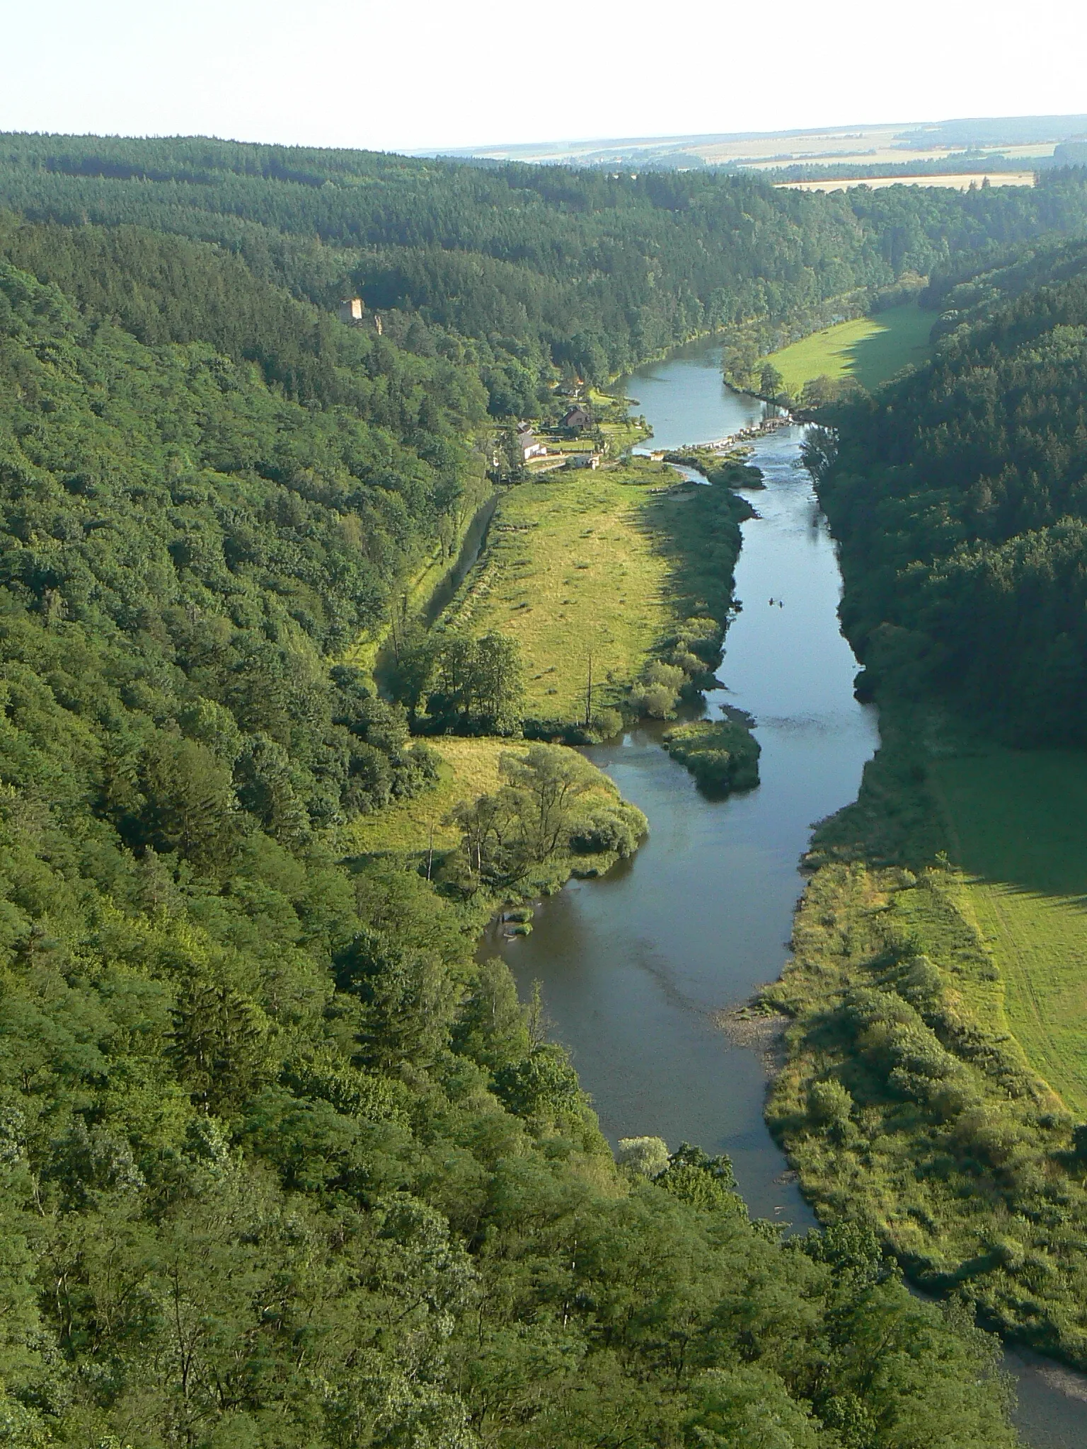
<svg viewBox="0 0 1087 1449">
<path fill-rule="evenodd" d="M 936 358 L 809 449 L 865 688 L 1087 739 L 1087 249 L 948 280 Z"/>
</svg>

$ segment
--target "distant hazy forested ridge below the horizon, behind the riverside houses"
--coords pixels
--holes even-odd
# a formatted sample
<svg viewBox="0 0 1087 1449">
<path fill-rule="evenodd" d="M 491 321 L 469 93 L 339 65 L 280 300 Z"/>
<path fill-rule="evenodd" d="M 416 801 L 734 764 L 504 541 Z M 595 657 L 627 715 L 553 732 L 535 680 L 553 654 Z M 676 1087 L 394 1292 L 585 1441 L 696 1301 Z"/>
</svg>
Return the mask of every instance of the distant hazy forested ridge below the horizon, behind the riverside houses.
<svg viewBox="0 0 1087 1449">
<path fill-rule="evenodd" d="M 962 254 L 1087 223 L 1074 170 L 1033 190 L 803 196 L 715 172 L 22 135 L 0 138 L 0 206 L 213 241 L 325 309 L 358 291 L 404 314 L 387 320 L 413 351 L 468 338 L 496 416 L 536 416 L 557 368 L 603 381 L 715 327 L 749 333 L 754 359 Z"/>
</svg>

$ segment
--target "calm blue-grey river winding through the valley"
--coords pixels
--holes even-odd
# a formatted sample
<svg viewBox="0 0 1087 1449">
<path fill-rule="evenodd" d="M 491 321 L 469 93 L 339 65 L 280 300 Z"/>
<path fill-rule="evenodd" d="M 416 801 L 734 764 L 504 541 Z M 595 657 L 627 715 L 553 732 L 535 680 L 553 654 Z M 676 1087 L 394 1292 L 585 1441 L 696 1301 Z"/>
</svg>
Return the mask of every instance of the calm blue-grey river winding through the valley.
<svg viewBox="0 0 1087 1449">
<path fill-rule="evenodd" d="M 628 380 L 654 448 L 726 436 L 762 404 L 723 387 L 720 349 L 701 342 Z M 813 1224 L 762 1119 L 765 1068 L 717 1024 L 780 975 L 788 953 L 800 856 L 812 824 L 857 796 L 878 743 L 877 716 L 852 694 L 857 661 L 838 627 L 841 577 L 801 430 L 759 439 L 767 488 L 751 493 L 736 567 L 742 603 L 729 629 L 723 690 L 755 717 L 761 784 L 706 800 L 659 746 L 659 729 L 586 751 L 649 817 L 633 861 L 601 881 L 571 881 L 544 901 L 528 938 L 499 940 L 525 995 L 542 987 L 554 1035 L 572 1052 L 612 1143 L 652 1135 L 670 1148 L 728 1152 L 754 1216 Z M 1009 1353 L 1019 1426 L 1033 1449 L 1087 1445 L 1087 1381 Z"/>
</svg>

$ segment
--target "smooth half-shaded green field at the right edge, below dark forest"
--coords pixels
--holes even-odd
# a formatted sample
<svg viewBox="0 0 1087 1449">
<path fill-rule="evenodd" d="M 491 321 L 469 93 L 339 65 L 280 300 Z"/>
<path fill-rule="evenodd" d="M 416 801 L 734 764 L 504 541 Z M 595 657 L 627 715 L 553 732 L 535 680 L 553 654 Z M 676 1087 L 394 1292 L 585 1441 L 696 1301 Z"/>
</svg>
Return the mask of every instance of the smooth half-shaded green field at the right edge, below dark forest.
<svg viewBox="0 0 1087 1449">
<path fill-rule="evenodd" d="M 1009 1026 L 1087 1117 L 1087 753 L 987 748 L 932 777 Z"/>
</svg>

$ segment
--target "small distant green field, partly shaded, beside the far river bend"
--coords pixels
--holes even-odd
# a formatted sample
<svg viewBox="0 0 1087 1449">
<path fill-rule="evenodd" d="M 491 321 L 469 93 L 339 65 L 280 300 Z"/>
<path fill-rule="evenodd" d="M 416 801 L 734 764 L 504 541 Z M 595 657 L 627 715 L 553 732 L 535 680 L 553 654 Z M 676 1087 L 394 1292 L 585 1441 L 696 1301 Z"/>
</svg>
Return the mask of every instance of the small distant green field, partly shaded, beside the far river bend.
<svg viewBox="0 0 1087 1449">
<path fill-rule="evenodd" d="M 871 390 L 907 364 L 923 362 L 929 356 L 929 332 L 935 320 L 935 313 L 907 303 L 874 317 L 857 317 L 813 332 L 810 338 L 771 352 L 768 361 L 793 397 L 816 377 L 855 377 Z"/>
</svg>

